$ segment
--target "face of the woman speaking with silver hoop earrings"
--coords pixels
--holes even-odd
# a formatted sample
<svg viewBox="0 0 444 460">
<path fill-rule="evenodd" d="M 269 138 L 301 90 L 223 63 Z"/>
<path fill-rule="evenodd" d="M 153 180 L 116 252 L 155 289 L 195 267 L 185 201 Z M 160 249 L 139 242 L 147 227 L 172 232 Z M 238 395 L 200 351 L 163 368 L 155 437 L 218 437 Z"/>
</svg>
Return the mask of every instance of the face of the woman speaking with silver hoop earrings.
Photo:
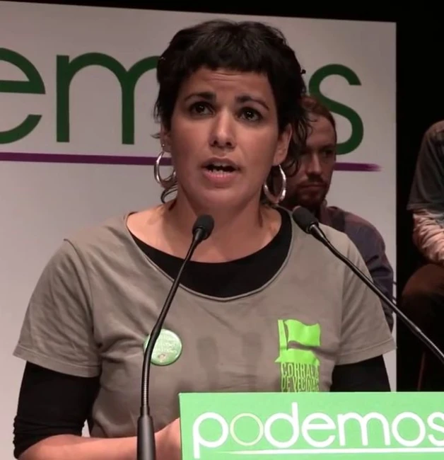
<svg viewBox="0 0 444 460">
<path fill-rule="evenodd" d="M 279 134 L 267 76 L 201 68 L 182 84 L 161 138 L 189 202 L 243 207 L 285 159 L 291 127 Z"/>
</svg>

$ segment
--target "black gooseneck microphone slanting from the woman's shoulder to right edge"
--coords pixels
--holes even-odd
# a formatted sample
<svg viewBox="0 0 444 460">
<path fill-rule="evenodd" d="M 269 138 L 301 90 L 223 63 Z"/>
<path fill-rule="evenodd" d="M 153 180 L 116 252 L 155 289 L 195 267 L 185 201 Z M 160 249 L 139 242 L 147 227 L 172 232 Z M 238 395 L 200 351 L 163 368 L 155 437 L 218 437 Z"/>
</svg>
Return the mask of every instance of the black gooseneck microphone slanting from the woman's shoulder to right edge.
<svg viewBox="0 0 444 460">
<path fill-rule="evenodd" d="M 401 310 L 389 299 L 379 288 L 373 283 L 373 280 L 366 276 L 361 270 L 354 265 L 344 254 L 339 252 L 332 243 L 325 236 L 322 229 L 320 229 L 319 221 L 316 217 L 305 207 L 298 206 L 293 210 L 292 213 L 293 220 L 296 222 L 298 227 L 305 231 L 306 234 L 314 236 L 317 241 L 320 241 L 324 246 L 326 246 L 333 255 L 336 255 L 339 260 L 341 260 L 345 265 L 347 265 L 354 274 L 361 279 L 378 297 L 383 301 L 389 308 L 395 312 L 395 314 L 402 320 L 402 322 L 411 330 L 414 335 L 416 335 L 422 343 L 424 343 L 434 355 L 444 364 L 444 353 L 433 343 L 433 341 L 427 337 L 423 331 L 416 326 L 416 324 L 411 321 L 407 316 L 405 316 Z"/>
</svg>

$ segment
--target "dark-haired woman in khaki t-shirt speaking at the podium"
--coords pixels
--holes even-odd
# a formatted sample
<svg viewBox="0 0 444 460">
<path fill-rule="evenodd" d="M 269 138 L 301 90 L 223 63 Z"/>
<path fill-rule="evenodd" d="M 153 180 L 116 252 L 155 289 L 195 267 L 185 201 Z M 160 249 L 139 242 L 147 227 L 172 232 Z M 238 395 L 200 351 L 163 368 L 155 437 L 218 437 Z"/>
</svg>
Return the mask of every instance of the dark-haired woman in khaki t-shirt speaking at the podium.
<svg viewBox="0 0 444 460">
<path fill-rule="evenodd" d="M 158 460 L 180 459 L 180 392 L 390 390 L 380 301 L 279 207 L 305 138 L 302 74 L 262 23 L 209 21 L 173 37 L 157 67 L 162 202 L 76 232 L 47 263 L 15 350 L 26 361 L 16 457 L 136 459 L 144 345 L 201 214 L 214 230 L 153 353 Z M 345 234 L 323 230 L 368 274 Z"/>
</svg>

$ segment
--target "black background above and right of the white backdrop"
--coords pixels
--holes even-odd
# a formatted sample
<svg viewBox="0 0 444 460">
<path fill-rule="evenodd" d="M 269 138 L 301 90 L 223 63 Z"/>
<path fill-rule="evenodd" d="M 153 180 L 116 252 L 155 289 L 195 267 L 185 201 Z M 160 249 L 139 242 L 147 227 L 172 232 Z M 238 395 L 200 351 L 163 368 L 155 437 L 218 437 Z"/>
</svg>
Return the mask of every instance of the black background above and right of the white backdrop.
<svg viewBox="0 0 444 460">
<path fill-rule="evenodd" d="M 391 21 L 397 23 L 397 298 L 419 263 L 419 254 L 411 243 L 411 217 L 406 205 L 414 173 L 416 156 L 425 130 L 444 119 L 443 51 L 444 21 L 438 2 L 407 2 L 387 7 L 390 2 L 306 1 L 251 2 L 250 6 L 229 6 L 212 1 L 35 1 L 33 3 L 77 4 L 145 8 L 170 11 L 238 13 L 260 16 Z M 245 2 L 247 3 L 247 2 Z M 428 3 L 428 4 L 427 4 Z M 192 5 L 192 6 L 189 6 Z M 262 6 L 261 6 L 262 5 Z M 392 4 L 393 5 L 393 4 Z M 365 203 L 363 203 L 365 206 Z M 419 367 L 419 343 L 398 323 L 397 389 L 416 387 Z M 435 369 L 440 369 L 436 367 Z M 438 371 L 440 372 L 440 371 Z M 441 373 L 441 372 L 440 372 Z"/>
</svg>

